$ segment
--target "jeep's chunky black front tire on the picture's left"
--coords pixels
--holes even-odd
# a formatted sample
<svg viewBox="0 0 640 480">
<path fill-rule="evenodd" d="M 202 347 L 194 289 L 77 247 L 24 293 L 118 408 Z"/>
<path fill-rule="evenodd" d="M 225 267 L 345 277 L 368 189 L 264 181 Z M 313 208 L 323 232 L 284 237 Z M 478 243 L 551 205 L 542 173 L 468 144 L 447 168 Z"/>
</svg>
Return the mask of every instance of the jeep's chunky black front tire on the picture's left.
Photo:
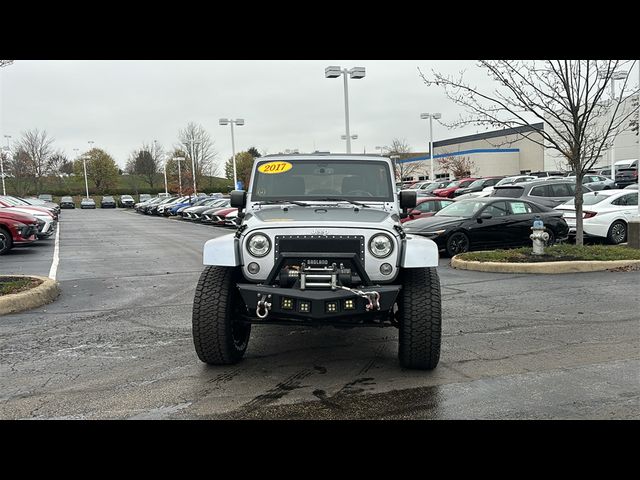
<svg viewBox="0 0 640 480">
<path fill-rule="evenodd" d="M 237 268 L 207 266 L 193 299 L 193 343 L 198 358 L 209 365 L 238 363 L 247 349 L 251 324 L 239 321 L 244 302 L 235 286 Z"/>
</svg>

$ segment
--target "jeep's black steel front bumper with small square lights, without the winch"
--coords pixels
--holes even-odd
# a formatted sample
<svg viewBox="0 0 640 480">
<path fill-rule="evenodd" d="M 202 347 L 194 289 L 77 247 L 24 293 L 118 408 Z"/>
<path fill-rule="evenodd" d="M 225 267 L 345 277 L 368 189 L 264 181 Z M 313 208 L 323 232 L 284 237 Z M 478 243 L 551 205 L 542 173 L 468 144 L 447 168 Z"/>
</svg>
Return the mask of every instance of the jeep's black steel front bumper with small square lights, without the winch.
<svg viewBox="0 0 640 480">
<path fill-rule="evenodd" d="M 253 320 L 260 320 L 256 309 L 261 299 L 271 303 L 269 314 L 263 319 L 265 323 L 273 320 L 340 323 L 340 320 L 353 320 L 354 317 L 387 315 L 402 288 L 400 285 L 375 285 L 359 289 L 365 293 L 376 291 L 380 294 L 380 309 L 367 310 L 369 302 L 366 298 L 342 289 L 300 290 L 253 283 L 239 283 L 237 286 Z"/>
</svg>

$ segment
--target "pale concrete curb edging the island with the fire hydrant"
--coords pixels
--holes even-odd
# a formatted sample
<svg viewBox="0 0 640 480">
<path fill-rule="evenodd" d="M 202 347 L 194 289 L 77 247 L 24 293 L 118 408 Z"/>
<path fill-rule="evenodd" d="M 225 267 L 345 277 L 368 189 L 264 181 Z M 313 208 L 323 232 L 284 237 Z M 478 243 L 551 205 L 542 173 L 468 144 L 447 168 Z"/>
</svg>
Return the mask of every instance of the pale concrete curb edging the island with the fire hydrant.
<svg viewBox="0 0 640 480">
<path fill-rule="evenodd" d="M 640 260 L 576 260 L 570 262 L 540 262 L 540 263 L 505 263 L 505 262 L 472 262 L 453 257 L 451 266 L 461 270 L 476 270 L 494 273 L 580 273 L 599 272 L 610 268 L 640 265 Z"/>
</svg>

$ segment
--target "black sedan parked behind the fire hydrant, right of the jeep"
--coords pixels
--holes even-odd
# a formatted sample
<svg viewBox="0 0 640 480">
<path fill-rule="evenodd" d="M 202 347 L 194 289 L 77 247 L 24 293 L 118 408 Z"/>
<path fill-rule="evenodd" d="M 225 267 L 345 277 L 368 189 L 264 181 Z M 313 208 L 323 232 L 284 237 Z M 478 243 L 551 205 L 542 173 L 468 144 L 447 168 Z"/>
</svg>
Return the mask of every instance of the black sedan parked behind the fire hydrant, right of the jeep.
<svg viewBox="0 0 640 480">
<path fill-rule="evenodd" d="M 460 200 L 433 217 L 407 222 L 404 230 L 408 235 L 430 238 L 440 250 L 454 256 L 469 250 L 530 246 L 536 216 L 544 222 L 549 245 L 567 238 L 569 227 L 557 210 L 500 197 Z"/>
</svg>

